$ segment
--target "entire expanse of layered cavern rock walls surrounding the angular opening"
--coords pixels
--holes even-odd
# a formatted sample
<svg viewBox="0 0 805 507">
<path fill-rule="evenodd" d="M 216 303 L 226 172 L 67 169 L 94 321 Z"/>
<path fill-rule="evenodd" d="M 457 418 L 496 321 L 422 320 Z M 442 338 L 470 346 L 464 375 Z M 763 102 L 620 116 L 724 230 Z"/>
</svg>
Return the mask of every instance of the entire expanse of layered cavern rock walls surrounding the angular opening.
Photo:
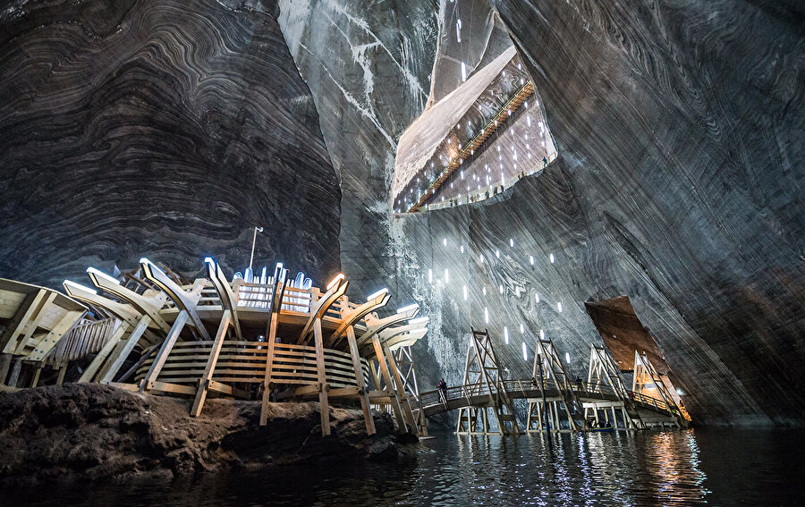
<svg viewBox="0 0 805 507">
<path fill-rule="evenodd" d="M 801 4 L 491 4 L 7 8 L 2 275 L 240 268 L 262 224 L 258 258 L 424 303 L 423 386 L 461 381 L 469 325 L 513 376 L 540 330 L 584 376 L 584 302 L 625 295 L 696 421 L 805 423 Z M 457 62 L 504 50 L 501 27 L 559 158 L 482 205 L 393 219 L 399 135 Z"/>
</svg>

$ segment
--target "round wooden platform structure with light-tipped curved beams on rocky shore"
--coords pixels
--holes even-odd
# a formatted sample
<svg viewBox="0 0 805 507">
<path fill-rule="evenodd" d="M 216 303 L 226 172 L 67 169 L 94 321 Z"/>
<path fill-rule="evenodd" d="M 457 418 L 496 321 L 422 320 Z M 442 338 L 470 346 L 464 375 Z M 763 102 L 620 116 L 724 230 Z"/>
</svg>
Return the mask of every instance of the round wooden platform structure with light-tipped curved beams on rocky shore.
<svg viewBox="0 0 805 507">
<path fill-rule="evenodd" d="M 232 280 L 205 266 L 192 283 L 147 258 L 114 276 L 90 267 L 94 288 L 65 280 L 66 295 L 0 279 L 0 384 L 35 387 L 44 368 L 61 384 L 79 361 L 78 382 L 187 396 L 194 417 L 208 396 L 259 400 L 261 425 L 269 401 L 313 400 L 322 435 L 339 403 L 360 404 L 369 435 L 373 406 L 427 434 L 410 350 L 428 332 L 418 305 L 380 317 L 388 291 L 351 301 L 344 275 L 319 289 L 281 264 Z"/>
</svg>

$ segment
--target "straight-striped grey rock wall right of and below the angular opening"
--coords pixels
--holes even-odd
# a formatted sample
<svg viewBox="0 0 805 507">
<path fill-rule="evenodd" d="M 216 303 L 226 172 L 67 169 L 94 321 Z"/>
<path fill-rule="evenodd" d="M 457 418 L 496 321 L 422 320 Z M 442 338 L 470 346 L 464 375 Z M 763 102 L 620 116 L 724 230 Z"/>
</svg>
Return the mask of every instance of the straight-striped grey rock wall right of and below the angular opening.
<svg viewBox="0 0 805 507">
<path fill-rule="evenodd" d="M 584 376 L 600 337 L 583 302 L 628 295 L 699 423 L 805 423 L 801 6 L 495 4 L 560 160 L 488 205 L 399 224 L 442 371 L 460 381 L 469 322 L 530 375 L 523 323 Z"/>
</svg>

